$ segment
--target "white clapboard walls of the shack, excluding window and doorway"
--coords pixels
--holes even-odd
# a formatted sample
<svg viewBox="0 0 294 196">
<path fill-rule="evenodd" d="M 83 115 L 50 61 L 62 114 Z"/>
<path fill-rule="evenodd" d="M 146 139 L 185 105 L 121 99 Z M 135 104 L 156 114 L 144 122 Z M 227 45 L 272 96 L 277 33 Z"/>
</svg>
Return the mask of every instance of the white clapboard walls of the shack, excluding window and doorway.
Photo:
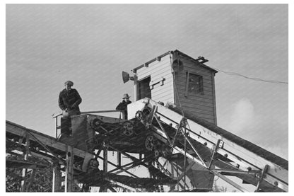
<svg viewBox="0 0 294 196">
<path fill-rule="evenodd" d="M 177 55 L 172 54 L 171 60 L 170 54 L 167 54 L 161 57 L 160 61 L 156 60 L 148 64 L 148 67 L 137 69 L 137 80 L 140 81 L 151 76 L 151 83 L 153 83 L 154 81 L 160 81 L 165 78 L 163 86 L 160 86 L 160 83 L 158 83 L 151 90 L 152 100 L 162 101 L 165 104 L 167 102 L 175 103 L 178 107 L 180 107 L 181 103 L 183 110 L 187 110 L 194 115 L 216 124 L 216 96 L 213 71 L 201 67 L 199 62 L 193 62 L 187 57 L 180 56 L 180 61 L 182 61 L 184 69 L 177 74 L 174 83 L 171 62 L 175 59 L 177 59 Z M 194 94 L 185 96 L 187 71 L 203 77 L 204 95 Z M 180 103 L 178 97 L 180 98 Z"/>
</svg>

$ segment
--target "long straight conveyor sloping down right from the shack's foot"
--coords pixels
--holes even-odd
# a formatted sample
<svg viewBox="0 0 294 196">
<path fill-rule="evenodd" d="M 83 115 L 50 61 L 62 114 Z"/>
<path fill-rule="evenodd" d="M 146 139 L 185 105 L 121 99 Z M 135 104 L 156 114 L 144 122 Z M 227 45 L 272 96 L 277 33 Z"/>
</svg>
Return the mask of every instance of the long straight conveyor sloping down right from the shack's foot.
<svg viewBox="0 0 294 196">
<path fill-rule="evenodd" d="M 183 116 L 177 108 L 166 108 L 149 98 L 128 105 L 128 119 L 134 117 L 150 127 L 174 153 L 186 156 L 242 192 L 247 192 L 244 186 L 227 176 L 256 186 L 256 191 L 288 192 L 288 161 L 235 134 L 194 115 Z M 175 144 L 180 133 L 189 144 L 187 151 Z"/>
</svg>

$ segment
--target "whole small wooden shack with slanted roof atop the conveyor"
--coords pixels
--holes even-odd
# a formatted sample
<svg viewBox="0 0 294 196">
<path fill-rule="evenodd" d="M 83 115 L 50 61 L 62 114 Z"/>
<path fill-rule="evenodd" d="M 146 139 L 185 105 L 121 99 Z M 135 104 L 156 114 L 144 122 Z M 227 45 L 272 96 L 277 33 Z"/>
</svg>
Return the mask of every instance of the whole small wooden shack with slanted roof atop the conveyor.
<svg viewBox="0 0 294 196">
<path fill-rule="evenodd" d="M 179 50 L 169 51 L 134 68 L 135 99 L 175 104 L 189 113 L 216 121 L 214 76 L 218 72 Z"/>
</svg>

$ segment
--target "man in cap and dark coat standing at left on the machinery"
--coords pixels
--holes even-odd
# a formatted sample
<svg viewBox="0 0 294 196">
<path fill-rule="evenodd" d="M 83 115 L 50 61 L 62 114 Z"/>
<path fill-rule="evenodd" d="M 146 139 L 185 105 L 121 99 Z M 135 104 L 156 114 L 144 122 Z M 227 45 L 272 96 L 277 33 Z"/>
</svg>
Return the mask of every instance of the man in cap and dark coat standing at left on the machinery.
<svg viewBox="0 0 294 196">
<path fill-rule="evenodd" d="M 64 83 L 64 90 L 59 93 L 58 104 L 62 110 L 61 117 L 61 134 L 71 134 L 71 115 L 81 114 L 78 105 L 82 102 L 81 96 L 76 89 L 71 88 L 73 86 L 72 81 L 66 81 Z"/>
</svg>

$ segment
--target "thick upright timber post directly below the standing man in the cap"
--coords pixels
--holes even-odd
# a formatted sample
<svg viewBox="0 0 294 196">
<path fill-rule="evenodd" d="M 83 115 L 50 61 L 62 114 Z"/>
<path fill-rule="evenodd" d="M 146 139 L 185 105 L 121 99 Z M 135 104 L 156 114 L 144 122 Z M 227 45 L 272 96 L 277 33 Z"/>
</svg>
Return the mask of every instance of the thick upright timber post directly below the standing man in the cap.
<svg viewBox="0 0 294 196">
<path fill-rule="evenodd" d="M 67 146 L 66 148 L 66 174 L 65 174 L 65 192 L 72 192 L 73 190 L 73 148 Z"/>
</svg>

